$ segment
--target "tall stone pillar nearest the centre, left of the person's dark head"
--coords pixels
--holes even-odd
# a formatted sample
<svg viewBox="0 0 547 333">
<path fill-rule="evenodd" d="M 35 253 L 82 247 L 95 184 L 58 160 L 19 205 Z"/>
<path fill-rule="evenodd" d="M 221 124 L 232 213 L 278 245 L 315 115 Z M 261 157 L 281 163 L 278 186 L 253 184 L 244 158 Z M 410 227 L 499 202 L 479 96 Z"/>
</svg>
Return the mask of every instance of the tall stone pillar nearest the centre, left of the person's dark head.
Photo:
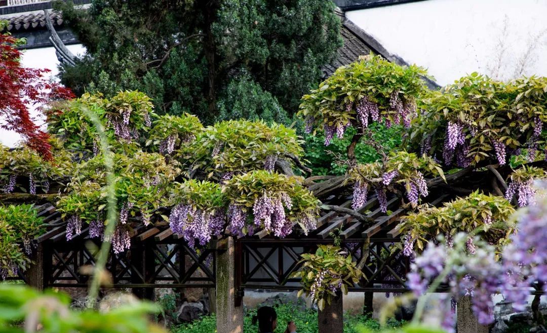
<svg viewBox="0 0 547 333">
<path fill-rule="evenodd" d="M 225 241 L 217 253 L 217 333 L 243 333 L 243 306 L 236 306 L 234 238 Z"/>
</svg>

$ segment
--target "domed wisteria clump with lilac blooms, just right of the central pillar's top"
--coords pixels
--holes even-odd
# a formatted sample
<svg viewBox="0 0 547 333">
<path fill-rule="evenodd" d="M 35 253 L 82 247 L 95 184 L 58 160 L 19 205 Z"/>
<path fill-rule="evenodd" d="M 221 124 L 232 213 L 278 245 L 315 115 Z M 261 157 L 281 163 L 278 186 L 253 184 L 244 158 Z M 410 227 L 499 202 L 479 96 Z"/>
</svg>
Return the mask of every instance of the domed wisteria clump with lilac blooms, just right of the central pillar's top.
<svg viewBox="0 0 547 333">
<path fill-rule="evenodd" d="M 232 235 L 266 230 L 286 237 L 298 224 L 307 234 L 316 228 L 319 201 L 298 177 L 267 171 L 234 176 L 225 185 L 229 202 L 228 229 Z"/>
</svg>

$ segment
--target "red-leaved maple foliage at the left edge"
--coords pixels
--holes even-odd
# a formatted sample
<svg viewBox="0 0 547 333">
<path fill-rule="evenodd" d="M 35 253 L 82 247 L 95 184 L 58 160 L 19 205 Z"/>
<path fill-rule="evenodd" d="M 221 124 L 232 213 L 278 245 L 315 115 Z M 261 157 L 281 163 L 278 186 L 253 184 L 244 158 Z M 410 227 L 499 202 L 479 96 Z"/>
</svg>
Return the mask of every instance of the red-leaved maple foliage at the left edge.
<svg viewBox="0 0 547 333">
<path fill-rule="evenodd" d="M 0 31 L 3 26 L 0 22 Z M 0 126 L 19 133 L 32 149 L 45 160 L 50 160 L 51 145 L 48 133 L 40 130 L 30 115 L 30 107 L 42 107 L 55 100 L 73 98 L 72 92 L 45 78 L 49 69 L 21 66 L 21 51 L 16 48 L 19 40 L 0 33 Z"/>
</svg>

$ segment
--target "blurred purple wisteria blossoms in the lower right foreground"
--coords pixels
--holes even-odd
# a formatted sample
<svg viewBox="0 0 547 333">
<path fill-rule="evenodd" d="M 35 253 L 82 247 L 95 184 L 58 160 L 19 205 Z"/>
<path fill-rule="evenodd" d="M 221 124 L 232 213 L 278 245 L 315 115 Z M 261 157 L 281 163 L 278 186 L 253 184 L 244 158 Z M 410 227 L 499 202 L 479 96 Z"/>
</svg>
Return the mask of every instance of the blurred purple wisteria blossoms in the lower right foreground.
<svg viewBox="0 0 547 333">
<path fill-rule="evenodd" d="M 474 253 L 468 250 L 465 253 L 469 236 L 458 233 L 451 246 L 447 241 L 428 244 L 411 266 L 407 277 L 409 288 L 421 295 L 433 280 L 449 283 L 456 298 L 472 296 L 473 311 L 481 324 L 494 320 L 492 294 L 503 294 L 514 309 L 522 311 L 529 288 L 538 282 L 547 284 L 547 248 L 543 241 L 547 230 L 547 184 L 539 181 L 536 185 L 540 202 L 517 211 L 518 232 L 510 232 L 510 242 L 503 248 L 501 260 L 495 254 L 498 250 L 487 244 L 484 237 L 473 239 Z M 503 227 L 503 220 L 492 221 L 492 225 Z"/>
</svg>

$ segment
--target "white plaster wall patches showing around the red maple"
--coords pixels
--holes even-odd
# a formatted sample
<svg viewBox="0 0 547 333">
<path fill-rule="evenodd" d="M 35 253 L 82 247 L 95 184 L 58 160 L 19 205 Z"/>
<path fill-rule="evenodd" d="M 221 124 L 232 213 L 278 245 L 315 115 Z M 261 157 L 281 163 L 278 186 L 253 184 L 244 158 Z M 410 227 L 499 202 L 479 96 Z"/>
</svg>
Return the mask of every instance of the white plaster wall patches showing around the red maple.
<svg viewBox="0 0 547 333">
<path fill-rule="evenodd" d="M 84 47 L 81 44 L 76 45 L 67 45 L 67 48 L 74 55 L 84 54 Z M 25 50 L 21 59 L 22 66 L 29 68 L 47 68 L 51 72 L 46 75 L 46 78 L 50 80 L 58 81 L 56 75 L 59 73 L 57 66 L 59 66 L 59 61 L 55 55 L 55 49 L 51 48 L 42 48 L 42 49 L 30 49 Z M 32 116 L 36 117 L 37 113 L 32 112 Z M 0 121 L 3 119 L 0 117 Z M 37 124 L 43 124 L 43 119 L 37 118 Z M 0 143 L 6 145 L 10 148 L 15 147 L 16 143 L 21 140 L 21 137 L 14 132 L 6 131 L 0 128 Z"/>
</svg>

